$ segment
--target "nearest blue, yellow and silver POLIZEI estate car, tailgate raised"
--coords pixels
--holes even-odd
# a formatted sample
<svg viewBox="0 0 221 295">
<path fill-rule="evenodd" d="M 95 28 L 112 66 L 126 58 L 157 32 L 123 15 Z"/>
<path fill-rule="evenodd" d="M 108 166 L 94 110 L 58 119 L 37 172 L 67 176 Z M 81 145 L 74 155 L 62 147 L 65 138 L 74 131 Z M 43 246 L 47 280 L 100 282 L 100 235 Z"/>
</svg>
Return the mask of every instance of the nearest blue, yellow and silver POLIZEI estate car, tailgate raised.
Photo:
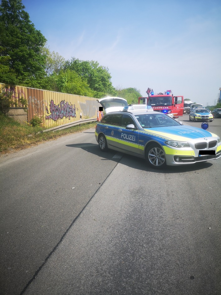
<svg viewBox="0 0 221 295">
<path fill-rule="evenodd" d="M 111 101 L 113 98 L 98 100 L 105 111 L 108 111 L 107 105 L 110 107 L 108 99 Z M 184 126 L 164 113 L 148 109 L 146 105 L 128 106 L 123 98 L 117 98 L 117 111 L 107 112 L 97 123 L 95 137 L 100 150 L 112 149 L 144 158 L 156 169 L 221 157 L 219 136 Z"/>
</svg>

